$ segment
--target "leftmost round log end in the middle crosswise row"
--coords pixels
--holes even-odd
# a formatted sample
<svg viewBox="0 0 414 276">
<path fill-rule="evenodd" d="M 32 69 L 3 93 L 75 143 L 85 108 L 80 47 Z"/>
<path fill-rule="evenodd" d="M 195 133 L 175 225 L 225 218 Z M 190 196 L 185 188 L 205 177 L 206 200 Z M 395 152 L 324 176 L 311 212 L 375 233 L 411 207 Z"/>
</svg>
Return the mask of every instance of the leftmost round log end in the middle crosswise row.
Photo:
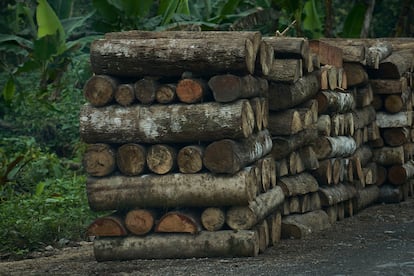
<svg viewBox="0 0 414 276">
<path fill-rule="evenodd" d="M 115 155 L 115 149 L 108 144 L 90 144 L 83 155 L 82 164 L 89 175 L 106 176 L 116 169 Z"/>
</svg>

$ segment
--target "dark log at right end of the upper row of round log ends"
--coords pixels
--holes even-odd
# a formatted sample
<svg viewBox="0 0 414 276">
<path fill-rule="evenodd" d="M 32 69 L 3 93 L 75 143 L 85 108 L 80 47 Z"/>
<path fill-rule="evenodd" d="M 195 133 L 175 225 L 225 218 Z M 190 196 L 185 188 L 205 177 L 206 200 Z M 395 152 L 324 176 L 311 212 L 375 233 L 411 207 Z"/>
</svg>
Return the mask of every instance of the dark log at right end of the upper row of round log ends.
<svg viewBox="0 0 414 276">
<path fill-rule="evenodd" d="M 217 102 L 232 102 L 237 99 L 248 99 L 264 96 L 268 83 L 264 79 L 246 75 L 239 77 L 232 74 L 217 75 L 208 81 L 214 100 Z"/>
</svg>

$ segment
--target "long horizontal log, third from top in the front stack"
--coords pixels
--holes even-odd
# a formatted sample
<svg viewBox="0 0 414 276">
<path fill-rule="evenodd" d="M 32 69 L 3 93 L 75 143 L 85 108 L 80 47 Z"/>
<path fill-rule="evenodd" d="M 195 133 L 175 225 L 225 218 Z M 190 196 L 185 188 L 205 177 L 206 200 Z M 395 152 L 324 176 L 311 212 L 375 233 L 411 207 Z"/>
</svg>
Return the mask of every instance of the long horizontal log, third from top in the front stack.
<svg viewBox="0 0 414 276">
<path fill-rule="evenodd" d="M 198 174 L 112 176 L 87 180 L 89 206 L 95 211 L 137 207 L 214 207 L 243 205 L 257 194 L 255 169 L 233 176 Z"/>
</svg>

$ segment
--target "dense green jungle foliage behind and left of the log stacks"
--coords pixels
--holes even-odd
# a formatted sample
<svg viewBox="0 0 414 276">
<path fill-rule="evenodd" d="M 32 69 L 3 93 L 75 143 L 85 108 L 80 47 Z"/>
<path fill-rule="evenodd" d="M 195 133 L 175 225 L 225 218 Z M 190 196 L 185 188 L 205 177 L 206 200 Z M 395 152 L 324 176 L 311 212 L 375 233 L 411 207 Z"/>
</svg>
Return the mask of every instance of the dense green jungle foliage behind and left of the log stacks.
<svg viewBox="0 0 414 276">
<path fill-rule="evenodd" d="M 1 1 L 0 258 L 84 240 L 100 215 L 87 203 L 79 110 L 89 45 L 104 33 L 413 37 L 413 18 L 413 0 Z"/>
</svg>

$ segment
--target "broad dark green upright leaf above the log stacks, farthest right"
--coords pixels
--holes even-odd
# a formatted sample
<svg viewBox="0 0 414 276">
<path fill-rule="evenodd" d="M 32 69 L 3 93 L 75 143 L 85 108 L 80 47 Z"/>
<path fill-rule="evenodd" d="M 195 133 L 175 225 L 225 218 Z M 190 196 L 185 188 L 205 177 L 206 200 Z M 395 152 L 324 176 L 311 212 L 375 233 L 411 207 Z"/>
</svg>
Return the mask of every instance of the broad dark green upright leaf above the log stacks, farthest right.
<svg viewBox="0 0 414 276">
<path fill-rule="evenodd" d="M 367 6 L 363 3 L 356 3 L 345 19 L 342 37 L 358 38 L 361 35 L 364 24 L 365 11 Z"/>
</svg>

